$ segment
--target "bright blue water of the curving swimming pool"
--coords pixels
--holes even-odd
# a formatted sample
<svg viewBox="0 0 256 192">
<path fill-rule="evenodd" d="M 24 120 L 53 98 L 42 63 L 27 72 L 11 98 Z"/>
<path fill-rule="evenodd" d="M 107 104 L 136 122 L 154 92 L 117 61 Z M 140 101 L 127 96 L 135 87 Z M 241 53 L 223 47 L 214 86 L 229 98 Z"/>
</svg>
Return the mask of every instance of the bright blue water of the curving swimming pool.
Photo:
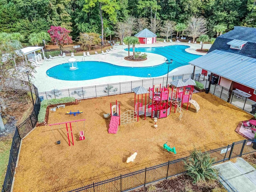
<svg viewBox="0 0 256 192">
<path fill-rule="evenodd" d="M 170 64 L 170 72 L 177 67 L 188 65 L 189 61 L 200 57 L 199 55 L 187 53 L 185 49 L 188 47 L 189 46 L 174 45 L 166 47 L 136 48 L 135 51 L 160 54 L 169 60 L 172 58 L 174 61 Z M 130 54 L 132 54 L 132 52 Z M 151 77 L 157 77 L 167 74 L 168 65 L 163 61 L 163 64 L 152 67 L 122 67 L 106 62 L 81 61 L 77 62 L 76 70 L 70 70 L 69 68 L 70 66 L 68 63 L 60 64 L 48 69 L 46 74 L 56 79 L 69 81 L 90 80 L 115 75 L 147 77 L 148 74 L 151 74 Z"/>
</svg>

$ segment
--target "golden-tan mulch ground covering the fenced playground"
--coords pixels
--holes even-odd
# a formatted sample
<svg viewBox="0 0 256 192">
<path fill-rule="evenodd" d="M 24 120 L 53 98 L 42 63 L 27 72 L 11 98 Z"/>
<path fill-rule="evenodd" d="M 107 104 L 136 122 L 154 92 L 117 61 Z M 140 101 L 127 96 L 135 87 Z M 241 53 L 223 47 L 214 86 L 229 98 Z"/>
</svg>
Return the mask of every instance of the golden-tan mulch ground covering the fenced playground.
<svg viewBox="0 0 256 192">
<path fill-rule="evenodd" d="M 66 124 L 36 127 L 28 134 L 22 142 L 14 192 L 72 190 L 184 157 L 193 148 L 215 149 L 244 139 L 234 130 L 238 122 L 252 116 L 212 94 L 196 93 L 192 99 L 200 110 L 196 112 L 193 105 L 186 110 L 185 103 L 181 120 L 172 108 L 166 118 L 158 118 L 157 128 L 153 118 L 144 120 L 142 115 L 138 122 L 118 126 L 116 134 L 108 133 L 110 118 L 103 114 L 110 113 L 110 103 L 113 106 L 116 100 L 120 114 L 134 110 L 134 93 L 82 100 L 50 111 L 48 124 L 85 121 L 72 122 L 74 146 L 70 130 L 69 146 Z M 70 111 L 82 113 L 66 114 Z M 79 139 L 81 131 L 84 140 Z M 176 154 L 163 148 L 166 142 Z M 126 163 L 134 151 L 136 158 Z"/>
</svg>

